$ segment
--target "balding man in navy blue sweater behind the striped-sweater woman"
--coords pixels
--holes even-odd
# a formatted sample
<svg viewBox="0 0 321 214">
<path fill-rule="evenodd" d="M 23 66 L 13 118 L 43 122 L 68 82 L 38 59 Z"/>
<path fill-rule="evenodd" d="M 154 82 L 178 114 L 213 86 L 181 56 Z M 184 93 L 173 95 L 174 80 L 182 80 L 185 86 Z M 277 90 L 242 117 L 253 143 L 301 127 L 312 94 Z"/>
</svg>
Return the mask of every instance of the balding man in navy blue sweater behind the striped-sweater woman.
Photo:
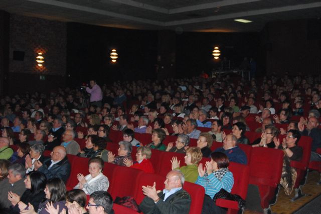
<svg viewBox="0 0 321 214">
<path fill-rule="evenodd" d="M 245 152 L 237 145 L 237 138 L 233 134 L 227 134 L 223 140 L 223 147 L 217 148 L 215 152 L 223 152 L 229 161 L 247 164 Z"/>
</svg>

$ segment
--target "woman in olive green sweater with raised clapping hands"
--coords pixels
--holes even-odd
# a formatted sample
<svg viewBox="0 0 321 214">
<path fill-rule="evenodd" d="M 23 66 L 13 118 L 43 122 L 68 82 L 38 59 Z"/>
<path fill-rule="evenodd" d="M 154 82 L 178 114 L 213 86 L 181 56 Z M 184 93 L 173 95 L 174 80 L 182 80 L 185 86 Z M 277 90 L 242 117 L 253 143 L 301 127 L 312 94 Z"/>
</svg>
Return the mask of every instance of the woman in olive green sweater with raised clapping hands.
<svg viewBox="0 0 321 214">
<path fill-rule="evenodd" d="M 202 151 L 199 147 L 189 147 L 186 149 L 186 155 L 184 157 L 186 165 L 180 167 L 181 160 L 177 160 L 177 157 L 173 157 L 172 162 L 172 169 L 180 169 L 184 176 L 185 180 L 195 183 L 197 176 L 199 175 L 198 172 L 198 164 L 203 157 Z"/>
</svg>

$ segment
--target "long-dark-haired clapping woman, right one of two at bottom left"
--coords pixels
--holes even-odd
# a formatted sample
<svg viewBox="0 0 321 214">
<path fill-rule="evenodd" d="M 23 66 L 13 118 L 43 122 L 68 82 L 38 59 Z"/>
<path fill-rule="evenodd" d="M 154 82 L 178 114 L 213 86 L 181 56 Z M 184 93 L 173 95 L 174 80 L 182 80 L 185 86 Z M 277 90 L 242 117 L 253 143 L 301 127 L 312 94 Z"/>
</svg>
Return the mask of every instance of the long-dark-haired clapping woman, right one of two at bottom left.
<svg viewBox="0 0 321 214">
<path fill-rule="evenodd" d="M 45 197 L 43 202 L 39 204 L 38 209 L 28 202 L 28 204 L 23 201 L 18 202 L 20 208 L 20 213 L 28 214 L 50 214 L 48 207 L 53 206 L 58 212 L 61 213 L 63 209 L 67 210 L 66 204 L 66 186 L 62 179 L 60 178 L 51 178 L 47 181 L 45 187 Z M 37 210 L 37 211 L 36 211 Z"/>
</svg>

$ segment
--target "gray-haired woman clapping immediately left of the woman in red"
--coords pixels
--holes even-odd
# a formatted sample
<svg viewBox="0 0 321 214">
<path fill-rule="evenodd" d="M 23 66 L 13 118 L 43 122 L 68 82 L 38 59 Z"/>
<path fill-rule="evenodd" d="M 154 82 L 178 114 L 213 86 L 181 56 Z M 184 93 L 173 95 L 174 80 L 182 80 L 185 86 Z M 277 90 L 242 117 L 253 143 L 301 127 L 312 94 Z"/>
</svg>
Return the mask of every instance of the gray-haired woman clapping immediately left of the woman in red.
<svg viewBox="0 0 321 214">
<path fill-rule="evenodd" d="M 130 142 L 127 141 L 120 141 L 118 142 L 119 144 L 119 148 L 118 148 L 118 156 L 115 157 L 115 154 L 113 154 L 111 151 L 108 152 L 108 162 L 117 164 L 117 165 L 121 165 L 121 166 L 125 166 L 125 162 L 124 159 L 127 158 L 128 160 L 132 161 L 131 158 L 131 151 L 132 151 L 132 147 Z"/>
</svg>

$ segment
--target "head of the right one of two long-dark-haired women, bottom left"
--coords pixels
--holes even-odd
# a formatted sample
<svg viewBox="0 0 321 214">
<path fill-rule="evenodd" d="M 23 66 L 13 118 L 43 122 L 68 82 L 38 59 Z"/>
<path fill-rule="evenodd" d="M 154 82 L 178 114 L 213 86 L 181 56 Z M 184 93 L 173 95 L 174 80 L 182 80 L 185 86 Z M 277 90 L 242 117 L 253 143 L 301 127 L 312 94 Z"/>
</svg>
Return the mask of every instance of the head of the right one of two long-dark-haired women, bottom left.
<svg viewBox="0 0 321 214">
<path fill-rule="evenodd" d="M 48 190 L 50 192 L 50 201 L 56 203 L 65 200 L 66 185 L 64 181 L 58 177 L 51 178 L 47 181 Z"/>
</svg>

